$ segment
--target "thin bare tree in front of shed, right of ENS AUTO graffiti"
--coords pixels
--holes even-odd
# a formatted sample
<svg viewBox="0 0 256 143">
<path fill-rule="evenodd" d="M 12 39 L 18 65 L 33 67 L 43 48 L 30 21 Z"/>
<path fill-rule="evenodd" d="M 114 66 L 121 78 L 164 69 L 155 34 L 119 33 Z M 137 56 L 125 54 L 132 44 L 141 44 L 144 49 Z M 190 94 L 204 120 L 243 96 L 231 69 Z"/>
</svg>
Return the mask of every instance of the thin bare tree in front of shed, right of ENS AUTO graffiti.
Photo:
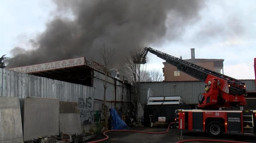
<svg viewBox="0 0 256 143">
<path fill-rule="evenodd" d="M 108 114 L 107 114 L 108 108 L 107 108 L 107 104 L 106 104 L 106 90 L 108 88 L 107 79 L 108 79 L 108 75 L 109 75 L 108 65 L 109 65 L 110 60 L 113 58 L 114 53 L 115 53 L 115 49 L 106 48 L 105 45 L 103 45 L 103 47 L 99 50 L 101 62 L 102 62 L 102 65 L 104 66 L 103 73 L 105 74 L 104 83 L 103 83 L 103 87 L 104 87 L 104 103 L 103 104 L 104 104 L 104 116 L 105 116 L 105 121 L 104 121 L 105 130 L 107 130 L 107 127 L 108 127 Z"/>
</svg>

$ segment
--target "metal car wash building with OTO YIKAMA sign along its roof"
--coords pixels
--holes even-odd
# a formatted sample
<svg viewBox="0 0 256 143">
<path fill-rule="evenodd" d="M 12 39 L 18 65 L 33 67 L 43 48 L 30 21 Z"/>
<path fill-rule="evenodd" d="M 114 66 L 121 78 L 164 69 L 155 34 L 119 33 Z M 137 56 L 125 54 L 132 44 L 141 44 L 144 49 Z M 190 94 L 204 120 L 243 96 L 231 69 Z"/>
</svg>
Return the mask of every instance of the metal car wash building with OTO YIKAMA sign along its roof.
<svg viewBox="0 0 256 143">
<path fill-rule="evenodd" d="M 77 57 L 48 63 L 40 63 L 23 67 L 9 68 L 9 70 L 19 73 L 28 73 L 37 77 L 49 78 L 52 80 L 64 81 L 73 84 L 83 85 L 85 87 L 93 87 L 95 89 L 94 102 L 95 110 L 101 110 L 103 103 L 103 83 L 105 80 L 104 66 L 95 61 L 85 60 L 85 57 Z M 34 78 L 32 78 L 34 79 Z M 47 81 L 48 82 L 48 81 Z M 34 86 L 34 85 L 32 85 Z M 130 104 L 130 84 L 117 78 L 108 76 L 107 78 L 106 100 L 109 108 L 116 107 L 120 109 L 122 106 L 128 108 Z M 46 85 L 43 90 L 51 90 L 51 86 Z M 49 89 L 50 88 L 50 89 Z M 37 89 L 40 90 L 40 89 Z M 66 88 L 64 93 L 79 89 Z M 83 90 L 81 90 L 82 92 Z M 122 96 L 122 92 L 124 95 Z M 38 96 L 35 93 L 35 96 Z M 48 93 L 50 94 L 50 93 Z M 49 97 L 49 96 L 47 96 Z M 63 97 L 62 97 L 63 98 Z M 125 106 L 126 105 L 126 106 Z"/>
</svg>

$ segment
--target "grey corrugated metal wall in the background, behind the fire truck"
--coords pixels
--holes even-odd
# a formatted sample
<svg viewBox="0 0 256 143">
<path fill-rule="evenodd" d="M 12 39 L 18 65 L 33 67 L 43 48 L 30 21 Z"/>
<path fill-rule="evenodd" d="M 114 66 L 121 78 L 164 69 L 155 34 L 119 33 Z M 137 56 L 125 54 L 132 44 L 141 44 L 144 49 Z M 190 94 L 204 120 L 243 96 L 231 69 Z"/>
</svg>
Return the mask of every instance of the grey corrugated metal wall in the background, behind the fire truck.
<svg viewBox="0 0 256 143">
<path fill-rule="evenodd" d="M 255 80 L 242 80 L 246 90 L 256 90 Z M 153 90 L 153 96 L 182 96 L 183 102 L 197 104 L 198 94 L 204 92 L 206 84 L 200 81 L 185 82 L 142 82 L 140 83 L 140 103 L 147 104 L 147 91 Z"/>
</svg>

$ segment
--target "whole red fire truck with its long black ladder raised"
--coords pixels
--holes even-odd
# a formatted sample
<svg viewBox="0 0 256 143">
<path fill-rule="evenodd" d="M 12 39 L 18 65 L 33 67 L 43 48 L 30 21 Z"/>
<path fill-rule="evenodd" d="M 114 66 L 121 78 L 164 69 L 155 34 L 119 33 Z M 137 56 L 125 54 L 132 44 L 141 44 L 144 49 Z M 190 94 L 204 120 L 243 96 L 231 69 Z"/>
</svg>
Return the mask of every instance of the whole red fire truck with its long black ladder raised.
<svg viewBox="0 0 256 143">
<path fill-rule="evenodd" d="M 224 132 L 255 135 L 256 110 L 219 110 L 222 107 L 246 105 L 244 82 L 150 47 L 144 48 L 136 63 L 145 64 L 148 52 L 206 84 L 205 93 L 198 95 L 197 106 L 202 110 L 176 111 L 176 123 L 181 131 L 183 129 L 202 131 L 211 137 L 219 137 Z"/>
</svg>

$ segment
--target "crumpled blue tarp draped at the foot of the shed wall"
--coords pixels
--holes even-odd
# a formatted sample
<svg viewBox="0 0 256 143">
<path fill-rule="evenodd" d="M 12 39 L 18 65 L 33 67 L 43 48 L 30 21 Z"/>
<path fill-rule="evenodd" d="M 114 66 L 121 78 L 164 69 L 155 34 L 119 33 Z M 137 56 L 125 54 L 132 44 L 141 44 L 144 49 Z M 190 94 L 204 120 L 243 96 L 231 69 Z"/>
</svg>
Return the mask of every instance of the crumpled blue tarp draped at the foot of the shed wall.
<svg viewBox="0 0 256 143">
<path fill-rule="evenodd" d="M 111 122 L 112 130 L 129 129 L 129 127 L 126 125 L 126 123 L 119 117 L 115 108 L 111 108 L 110 114 L 112 117 L 112 122 Z"/>
</svg>

